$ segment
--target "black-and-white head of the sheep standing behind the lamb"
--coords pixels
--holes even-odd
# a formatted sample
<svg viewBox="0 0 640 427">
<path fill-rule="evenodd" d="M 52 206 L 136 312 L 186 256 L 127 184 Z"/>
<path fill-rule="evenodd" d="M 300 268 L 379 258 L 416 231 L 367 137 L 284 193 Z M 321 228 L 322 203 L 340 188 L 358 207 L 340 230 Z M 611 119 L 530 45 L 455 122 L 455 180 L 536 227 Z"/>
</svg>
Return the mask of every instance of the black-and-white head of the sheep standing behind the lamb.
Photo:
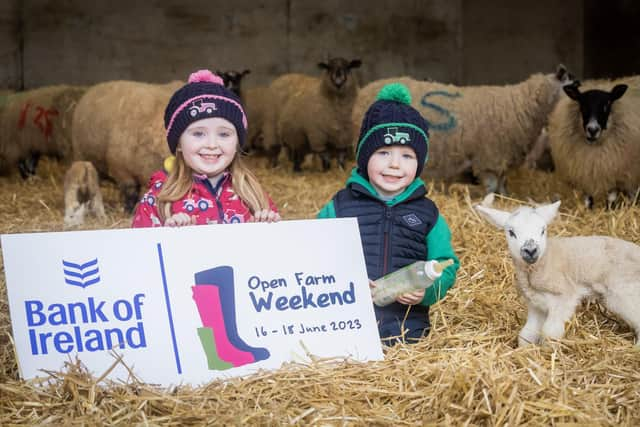
<svg viewBox="0 0 640 427">
<path fill-rule="evenodd" d="M 627 85 L 616 85 L 607 92 L 604 90 L 588 90 L 580 92 L 578 85 L 564 87 L 567 96 L 580 105 L 582 114 L 582 128 L 584 129 L 587 144 L 595 144 L 607 128 L 611 104 L 620 99 L 627 91 Z"/>
</svg>

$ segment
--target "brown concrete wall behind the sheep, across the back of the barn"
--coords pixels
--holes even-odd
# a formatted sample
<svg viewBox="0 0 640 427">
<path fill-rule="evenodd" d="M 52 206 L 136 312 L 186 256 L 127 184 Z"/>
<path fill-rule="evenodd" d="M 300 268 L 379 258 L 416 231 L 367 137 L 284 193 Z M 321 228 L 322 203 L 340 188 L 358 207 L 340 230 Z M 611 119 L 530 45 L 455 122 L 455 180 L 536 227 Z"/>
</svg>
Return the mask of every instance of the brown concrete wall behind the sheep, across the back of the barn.
<svg viewBox="0 0 640 427">
<path fill-rule="evenodd" d="M 0 86 L 164 82 L 203 67 L 249 68 L 260 85 L 316 74 L 327 55 L 362 59 L 364 82 L 504 84 L 559 62 L 582 76 L 583 22 L 581 0 L 3 0 Z"/>
</svg>

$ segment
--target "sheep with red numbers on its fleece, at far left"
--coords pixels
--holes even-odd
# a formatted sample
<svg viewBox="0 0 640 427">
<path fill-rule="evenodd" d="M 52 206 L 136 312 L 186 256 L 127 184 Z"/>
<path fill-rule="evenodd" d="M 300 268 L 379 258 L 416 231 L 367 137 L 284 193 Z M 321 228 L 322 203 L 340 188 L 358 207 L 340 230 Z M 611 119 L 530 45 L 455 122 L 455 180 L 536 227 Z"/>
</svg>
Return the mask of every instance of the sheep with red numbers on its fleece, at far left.
<svg viewBox="0 0 640 427">
<path fill-rule="evenodd" d="M 58 85 L 9 95 L 0 118 L 0 173 L 17 167 L 28 178 L 41 155 L 69 159 L 73 112 L 85 92 Z"/>
</svg>

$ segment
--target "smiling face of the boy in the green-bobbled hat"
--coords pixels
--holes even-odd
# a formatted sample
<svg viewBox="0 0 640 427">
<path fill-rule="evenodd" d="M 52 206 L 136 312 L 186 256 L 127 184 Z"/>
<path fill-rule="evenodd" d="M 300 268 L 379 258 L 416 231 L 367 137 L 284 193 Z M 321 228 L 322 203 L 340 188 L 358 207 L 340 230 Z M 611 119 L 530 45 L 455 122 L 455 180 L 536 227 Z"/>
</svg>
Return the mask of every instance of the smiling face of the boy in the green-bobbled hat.
<svg viewBox="0 0 640 427">
<path fill-rule="evenodd" d="M 413 148 L 390 145 L 377 149 L 369 158 L 369 182 L 378 194 L 389 197 L 402 193 L 416 178 L 418 159 Z"/>
</svg>

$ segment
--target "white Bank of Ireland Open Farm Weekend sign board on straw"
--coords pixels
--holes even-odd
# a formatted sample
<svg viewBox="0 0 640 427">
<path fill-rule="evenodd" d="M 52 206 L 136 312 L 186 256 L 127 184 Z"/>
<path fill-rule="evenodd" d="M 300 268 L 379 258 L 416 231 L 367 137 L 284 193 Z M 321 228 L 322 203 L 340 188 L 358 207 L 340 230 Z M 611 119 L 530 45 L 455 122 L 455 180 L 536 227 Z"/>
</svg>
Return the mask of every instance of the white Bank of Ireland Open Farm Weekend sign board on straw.
<svg viewBox="0 0 640 427">
<path fill-rule="evenodd" d="M 13 234 L 2 251 L 24 378 L 70 356 L 100 375 L 110 349 L 163 385 L 307 350 L 383 358 L 355 219 Z"/>
</svg>

